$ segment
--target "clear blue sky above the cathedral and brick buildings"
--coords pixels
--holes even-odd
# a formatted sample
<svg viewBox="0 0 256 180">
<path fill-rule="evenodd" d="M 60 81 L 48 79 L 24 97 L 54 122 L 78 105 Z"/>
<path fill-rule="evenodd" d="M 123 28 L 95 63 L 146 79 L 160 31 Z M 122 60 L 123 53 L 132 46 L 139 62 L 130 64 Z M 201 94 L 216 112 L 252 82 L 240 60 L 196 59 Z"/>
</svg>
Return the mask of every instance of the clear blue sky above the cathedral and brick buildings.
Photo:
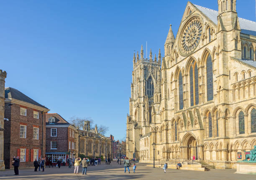
<svg viewBox="0 0 256 180">
<path fill-rule="evenodd" d="M 192 3 L 218 10 L 217 0 Z M 176 35 L 186 0 L 26 0 L 0 2 L 0 69 L 18 89 L 59 113 L 91 117 L 122 139 L 131 96 L 133 51 L 161 48 Z M 237 0 L 255 21 L 255 0 Z M 145 51 L 146 52 L 146 51 Z"/>
</svg>

